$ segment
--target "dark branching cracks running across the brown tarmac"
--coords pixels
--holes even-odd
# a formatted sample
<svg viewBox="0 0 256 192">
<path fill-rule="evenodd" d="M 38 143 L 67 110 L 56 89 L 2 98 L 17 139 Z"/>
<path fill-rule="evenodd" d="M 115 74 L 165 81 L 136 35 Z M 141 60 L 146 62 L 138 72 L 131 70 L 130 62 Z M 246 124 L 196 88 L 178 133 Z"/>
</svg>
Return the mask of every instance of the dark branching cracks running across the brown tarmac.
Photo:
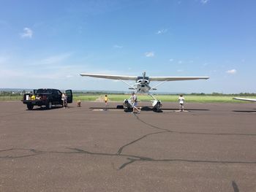
<svg viewBox="0 0 256 192">
<path fill-rule="evenodd" d="M 127 162 L 124 164 L 121 164 L 119 166 L 118 170 L 124 169 L 129 164 L 133 164 L 137 161 L 152 161 L 152 162 L 189 162 L 189 163 L 210 163 L 210 164 L 256 164 L 256 161 L 214 161 L 214 160 L 198 160 L 198 159 L 182 159 L 182 158 L 166 158 L 166 159 L 154 159 L 149 157 L 144 157 L 140 155 L 130 155 L 130 154 L 124 154 L 123 150 L 125 147 L 128 147 L 129 145 L 135 144 L 136 142 L 139 142 L 142 139 L 145 139 L 146 137 L 149 137 L 154 134 L 162 134 L 162 133 L 176 133 L 176 134 L 203 134 L 203 135 L 235 135 L 235 136 L 256 136 L 256 134 L 214 134 L 214 133 L 203 133 L 203 132 L 183 132 L 183 131 L 172 131 L 167 128 L 161 128 L 154 125 L 151 125 L 150 123 L 147 123 L 144 120 L 141 120 L 138 115 L 134 114 L 137 120 L 139 120 L 141 123 L 146 124 L 146 126 L 149 126 L 151 128 L 157 128 L 160 131 L 153 132 L 150 134 L 143 135 L 142 137 L 139 137 L 138 139 L 133 140 L 132 142 L 127 143 L 126 145 L 123 145 L 118 148 L 118 151 L 116 153 L 94 153 L 87 150 L 79 149 L 79 148 L 71 148 L 67 147 L 67 149 L 72 151 L 44 151 L 44 150 L 35 150 L 35 149 L 28 149 L 28 148 L 10 148 L 6 150 L 0 150 L 0 159 L 9 159 L 9 158 L 26 158 L 31 157 L 35 155 L 42 155 L 47 153 L 55 153 L 55 154 L 87 154 L 87 155 L 105 155 L 105 156 L 116 156 L 116 157 L 125 157 L 127 158 Z M 32 154 L 28 155 L 5 155 L 1 156 L 1 153 L 6 153 L 8 151 L 12 150 L 23 150 L 23 151 L 29 151 Z M 234 186 L 234 185 L 233 185 Z M 234 188 L 235 190 L 235 188 Z"/>
</svg>

